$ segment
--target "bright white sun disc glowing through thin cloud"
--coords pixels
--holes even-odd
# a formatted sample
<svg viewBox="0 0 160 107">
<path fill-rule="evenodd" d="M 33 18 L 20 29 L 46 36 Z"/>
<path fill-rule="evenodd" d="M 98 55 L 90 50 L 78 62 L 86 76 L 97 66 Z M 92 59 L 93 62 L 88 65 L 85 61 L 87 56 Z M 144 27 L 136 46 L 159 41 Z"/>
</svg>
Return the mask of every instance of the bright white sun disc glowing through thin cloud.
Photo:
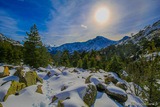
<svg viewBox="0 0 160 107">
<path fill-rule="evenodd" d="M 95 12 L 95 20 L 99 24 L 104 24 L 109 19 L 109 10 L 106 7 L 100 7 Z"/>
</svg>

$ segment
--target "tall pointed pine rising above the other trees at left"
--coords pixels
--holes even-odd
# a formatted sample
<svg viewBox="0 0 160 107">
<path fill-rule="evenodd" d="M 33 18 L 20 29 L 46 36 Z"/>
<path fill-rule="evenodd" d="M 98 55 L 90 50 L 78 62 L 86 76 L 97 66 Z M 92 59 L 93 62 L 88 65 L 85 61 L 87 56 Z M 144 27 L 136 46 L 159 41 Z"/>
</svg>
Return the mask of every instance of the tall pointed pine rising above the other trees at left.
<svg viewBox="0 0 160 107">
<path fill-rule="evenodd" d="M 42 44 L 35 24 L 31 27 L 30 32 L 27 32 L 27 36 L 24 41 L 24 63 L 35 68 L 47 66 L 50 55 Z"/>
</svg>

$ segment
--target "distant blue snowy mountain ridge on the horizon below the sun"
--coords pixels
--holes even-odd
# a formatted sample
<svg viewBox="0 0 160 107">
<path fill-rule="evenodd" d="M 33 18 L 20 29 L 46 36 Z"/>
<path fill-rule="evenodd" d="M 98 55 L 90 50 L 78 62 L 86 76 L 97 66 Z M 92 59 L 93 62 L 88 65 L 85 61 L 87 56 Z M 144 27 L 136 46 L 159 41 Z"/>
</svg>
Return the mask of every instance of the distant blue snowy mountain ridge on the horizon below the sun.
<svg viewBox="0 0 160 107">
<path fill-rule="evenodd" d="M 103 36 L 97 36 L 96 38 L 88 40 L 86 42 L 66 43 L 59 47 L 49 47 L 48 50 L 51 53 L 56 53 L 57 51 L 63 52 L 64 50 L 68 50 L 70 53 L 73 53 L 74 51 L 82 52 L 82 51 L 100 50 L 110 45 L 122 42 L 128 38 L 129 38 L 128 36 L 125 36 L 119 41 L 114 41 L 107 39 Z"/>
</svg>

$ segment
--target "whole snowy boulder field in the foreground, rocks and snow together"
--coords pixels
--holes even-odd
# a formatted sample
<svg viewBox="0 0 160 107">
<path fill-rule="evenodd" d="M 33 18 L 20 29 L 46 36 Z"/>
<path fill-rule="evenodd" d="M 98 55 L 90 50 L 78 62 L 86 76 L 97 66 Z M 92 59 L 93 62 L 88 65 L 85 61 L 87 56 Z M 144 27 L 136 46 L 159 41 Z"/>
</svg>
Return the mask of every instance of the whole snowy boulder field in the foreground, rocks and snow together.
<svg viewBox="0 0 160 107">
<path fill-rule="evenodd" d="M 145 107 L 134 83 L 113 72 L 51 66 L 0 66 L 0 72 L 2 107 Z"/>
</svg>

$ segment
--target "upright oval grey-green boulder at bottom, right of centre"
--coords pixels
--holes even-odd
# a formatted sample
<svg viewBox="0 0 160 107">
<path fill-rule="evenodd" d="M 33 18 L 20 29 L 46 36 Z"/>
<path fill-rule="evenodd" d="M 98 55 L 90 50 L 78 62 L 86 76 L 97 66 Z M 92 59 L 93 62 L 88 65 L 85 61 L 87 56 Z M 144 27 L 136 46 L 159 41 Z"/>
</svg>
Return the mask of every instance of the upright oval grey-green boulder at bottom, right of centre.
<svg viewBox="0 0 160 107">
<path fill-rule="evenodd" d="M 94 104 L 97 96 L 97 89 L 93 84 L 89 84 L 86 89 L 86 93 L 83 97 L 83 101 L 90 107 Z"/>
</svg>

